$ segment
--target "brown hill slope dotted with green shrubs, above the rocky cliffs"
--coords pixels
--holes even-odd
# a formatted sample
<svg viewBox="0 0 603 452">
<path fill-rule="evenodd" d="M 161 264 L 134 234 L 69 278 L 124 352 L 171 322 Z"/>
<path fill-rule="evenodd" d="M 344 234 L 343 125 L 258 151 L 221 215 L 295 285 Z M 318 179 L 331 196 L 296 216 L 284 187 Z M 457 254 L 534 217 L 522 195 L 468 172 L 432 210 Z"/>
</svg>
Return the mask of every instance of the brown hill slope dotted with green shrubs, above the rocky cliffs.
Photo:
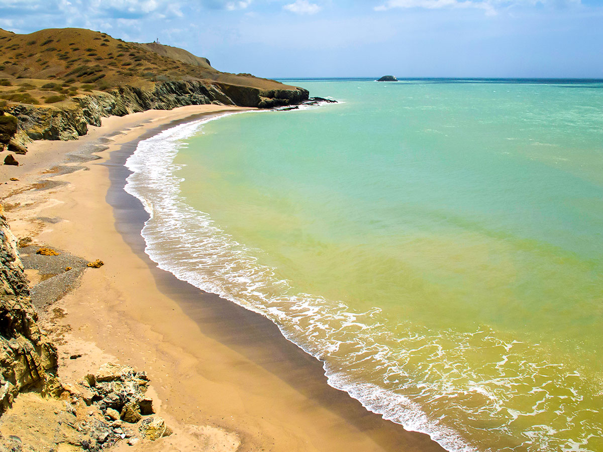
<svg viewBox="0 0 603 452">
<path fill-rule="evenodd" d="M 248 74 L 216 71 L 182 49 L 113 39 L 78 28 L 14 34 L 0 29 L 0 107 L 9 103 L 66 105 L 74 96 L 159 81 L 209 80 L 283 89 Z"/>
</svg>

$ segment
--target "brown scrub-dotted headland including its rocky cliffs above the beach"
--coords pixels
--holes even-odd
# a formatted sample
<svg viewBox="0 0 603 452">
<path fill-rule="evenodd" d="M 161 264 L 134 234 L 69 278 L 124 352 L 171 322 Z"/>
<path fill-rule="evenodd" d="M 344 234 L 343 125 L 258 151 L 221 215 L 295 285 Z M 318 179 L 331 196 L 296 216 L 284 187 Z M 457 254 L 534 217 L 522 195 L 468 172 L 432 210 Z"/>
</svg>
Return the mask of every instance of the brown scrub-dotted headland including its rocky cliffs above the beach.
<svg viewBox="0 0 603 452">
<path fill-rule="evenodd" d="M 304 89 L 219 72 L 206 58 L 158 43 L 124 42 L 78 28 L 30 34 L 0 29 L 0 108 L 22 116 L 19 130 L 31 139 L 75 138 L 101 116 L 150 108 L 271 108 L 306 99 Z M 57 116 L 62 119 L 53 121 Z"/>
</svg>

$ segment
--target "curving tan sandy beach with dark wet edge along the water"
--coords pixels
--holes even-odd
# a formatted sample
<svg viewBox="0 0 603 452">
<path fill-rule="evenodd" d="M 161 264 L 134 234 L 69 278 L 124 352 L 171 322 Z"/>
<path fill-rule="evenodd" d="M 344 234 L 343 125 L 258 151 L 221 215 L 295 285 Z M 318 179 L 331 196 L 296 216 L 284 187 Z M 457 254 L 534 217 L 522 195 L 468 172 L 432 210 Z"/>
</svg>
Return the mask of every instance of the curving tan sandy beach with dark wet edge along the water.
<svg viewBox="0 0 603 452">
<path fill-rule="evenodd" d="M 27 219 L 17 219 L 13 226 L 19 212 L 48 211 L 54 216 L 45 212 L 46 218 L 61 221 L 40 225 L 36 220 L 39 239 L 106 262 L 98 271 L 86 271 L 80 287 L 63 298 L 67 314 L 61 321 L 69 323 L 78 339 L 147 371 L 162 412 L 172 422 L 236 432 L 239 450 L 443 450 L 427 435 L 406 432 L 327 385 L 321 363 L 285 339 L 267 318 L 177 280 L 144 253 L 140 229 L 148 216 L 123 190 L 130 174 L 123 163 L 145 137 L 216 113 L 183 108 L 188 108 L 186 113 L 136 114 L 140 120 L 128 115 L 121 125 L 122 118 L 110 118 L 103 124 L 112 126 L 95 128 L 79 146 L 57 143 L 52 148 L 77 149 L 97 140 L 92 145 L 107 149 L 95 161 L 79 164 L 89 166 L 87 171 L 55 175 L 54 187 L 37 190 L 42 193 L 37 207 L 17 206 L 7 213 L 11 227 L 22 236 L 32 228 Z M 157 124 L 150 122 L 153 115 Z M 124 128 L 130 130 L 120 134 Z M 101 145 L 103 140 L 108 142 Z M 37 142 L 32 149 L 46 143 Z M 35 174 L 23 174 L 39 177 L 51 160 L 32 165 Z M 24 198 L 24 193 L 19 196 Z M 86 241 L 90 237 L 93 243 Z"/>
</svg>

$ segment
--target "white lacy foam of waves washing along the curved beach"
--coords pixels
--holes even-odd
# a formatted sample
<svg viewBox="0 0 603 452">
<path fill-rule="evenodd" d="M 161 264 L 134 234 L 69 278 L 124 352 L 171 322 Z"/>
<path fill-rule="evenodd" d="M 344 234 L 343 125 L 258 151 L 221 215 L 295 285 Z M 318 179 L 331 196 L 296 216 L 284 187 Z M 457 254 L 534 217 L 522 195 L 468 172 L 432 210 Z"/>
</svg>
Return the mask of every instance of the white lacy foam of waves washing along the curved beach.
<svg viewBox="0 0 603 452">
<path fill-rule="evenodd" d="M 523 429 L 523 438 L 514 439 L 513 447 L 472 444 L 470 440 L 471 428 L 484 432 L 491 428 L 510 438 L 518 418 L 551 410 L 546 385 L 563 385 L 564 378 L 572 372 L 561 372 L 559 378 L 540 377 L 540 369 L 546 366 L 538 356 L 540 350 L 528 350 L 525 344 L 512 339 L 500 339 L 488 328 L 458 334 L 401 324 L 394 325 L 398 333 L 393 335 L 391 325 L 384 326 L 387 319 L 382 318 L 379 309 L 354 312 L 341 301 L 292 292 L 289 282 L 276 277 L 274 269 L 259 264 L 254 257 L 257 250 L 238 243 L 209 215 L 189 206 L 180 195 L 182 178 L 176 174 L 182 167 L 174 163 L 175 155 L 206 122 L 227 115 L 162 131 L 141 141 L 126 162 L 133 173 L 127 178 L 125 190 L 140 199 L 150 215 L 141 233 L 146 253 L 159 268 L 266 316 L 278 325 L 283 336 L 323 362 L 329 385 L 346 391 L 366 409 L 407 430 L 428 434 L 449 451 L 510 451 L 517 447 L 516 450 L 534 452 L 588 450 L 575 448 L 586 444 L 584 438 L 555 438 L 554 428 L 536 419 L 534 425 Z M 464 365 L 464 354 L 481 347 L 499 350 L 488 364 L 498 369 L 494 371 L 496 378 L 484 380 L 479 369 Z M 522 353 L 514 353 L 519 348 Z M 526 356 L 530 359 L 526 360 Z M 420 372 L 408 374 L 406 365 L 417 357 L 421 360 Z M 508 372 L 505 364 L 510 360 L 519 371 Z M 354 371 L 359 368 L 372 370 Z M 518 385 L 543 391 L 535 400 L 533 412 L 511 408 L 511 399 L 520 397 L 513 393 Z M 567 402 L 558 407 L 558 417 L 563 418 L 567 405 L 579 404 L 579 391 L 573 391 L 568 392 Z M 456 402 L 461 399 L 479 399 L 483 404 L 475 409 L 475 425 L 469 429 L 463 429 L 463 425 L 451 427 L 456 423 L 455 413 L 467 410 L 462 402 Z M 446 409 L 432 409 L 441 400 L 447 401 Z M 499 420 L 495 425 L 479 425 L 482 419 L 492 417 Z"/>
</svg>

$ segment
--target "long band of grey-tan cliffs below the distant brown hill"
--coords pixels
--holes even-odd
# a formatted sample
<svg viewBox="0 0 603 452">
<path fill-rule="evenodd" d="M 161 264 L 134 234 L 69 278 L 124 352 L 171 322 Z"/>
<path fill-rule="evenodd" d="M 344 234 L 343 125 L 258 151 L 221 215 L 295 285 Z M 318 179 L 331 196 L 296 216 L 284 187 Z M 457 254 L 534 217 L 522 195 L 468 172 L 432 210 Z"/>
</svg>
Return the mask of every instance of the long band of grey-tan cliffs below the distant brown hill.
<svg viewBox="0 0 603 452">
<path fill-rule="evenodd" d="M 73 98 L 71 107 L 14 105 L 8 108 L 19 119 L 19 131 L 32 140 L 72 140 L 85 135 L 88 125 L 101 125 L 101 118 L 124 116 L 145 110 L 171 110 L 185 105 L 222 104 L 274 108 L 308 100 L 302 88 L 262 90 L 235 84 L 202 80 L 163 81 L 153 89 L 124 86 Z M 22 137 L 24 138 L 24 137 Z"/>
</svg>

